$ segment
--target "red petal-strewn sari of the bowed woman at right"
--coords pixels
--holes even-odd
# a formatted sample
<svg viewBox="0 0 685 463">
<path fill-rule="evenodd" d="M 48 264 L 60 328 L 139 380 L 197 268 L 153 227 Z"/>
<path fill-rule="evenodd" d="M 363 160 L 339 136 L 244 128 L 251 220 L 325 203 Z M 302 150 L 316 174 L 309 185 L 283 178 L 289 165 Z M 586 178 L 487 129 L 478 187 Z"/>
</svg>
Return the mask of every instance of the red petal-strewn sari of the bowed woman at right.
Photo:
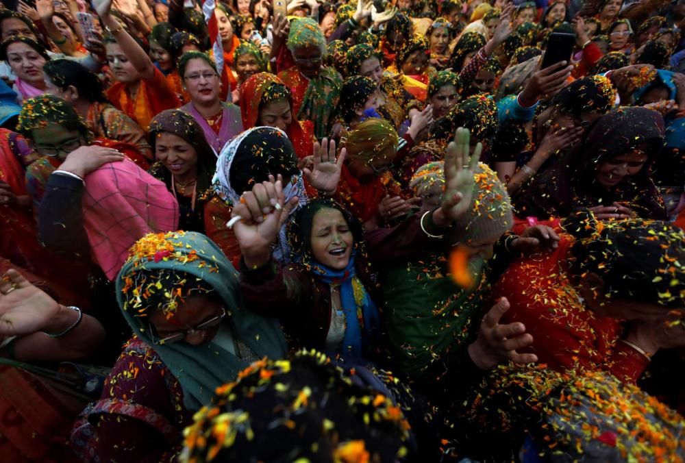
<svg viewBox="0 0 685 463">
<path fill-rule="evenodd" d="M 604 370 L 634 383 L 649 360 L 618 342 L 620 320 L 596 315 L 578 299 L 566 263 L 573 238 L 561 236 L 553 253 L 514 262 L 497 281 L 493 295 L 506 297 L 511 305 L 501 323 L 523 323 L 533 336 L 533 345 L 524 350 L 549 368 Z"/>
</svg>

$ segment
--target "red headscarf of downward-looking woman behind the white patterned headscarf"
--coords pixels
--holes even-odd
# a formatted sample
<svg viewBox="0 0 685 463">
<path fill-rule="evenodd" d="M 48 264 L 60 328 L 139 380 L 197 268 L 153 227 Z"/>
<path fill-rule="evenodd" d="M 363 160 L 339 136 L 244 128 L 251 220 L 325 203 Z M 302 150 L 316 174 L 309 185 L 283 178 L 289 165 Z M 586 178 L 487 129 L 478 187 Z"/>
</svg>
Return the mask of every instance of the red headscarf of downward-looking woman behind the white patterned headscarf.
<svg viewBox="0 0 685 463">
<path fill-rule="evenodd" d="M 257 125 L 259 120 L 259 107 L 264 92 L 271 84 L 285 85 L 281 79 L 270 73 L 258 73 L 251 76 L 242 84 L 242 97 L 240 98 L 240 113 L 242 114 L 242 128 L 247 130 Z M 292 112 L 292 101 L 290 101 Z M 314 125 L 311 121 L 301 123 L 292 113 L 292 123 L 286 130 L 288 138 L 295 148 L 297 157 L 302 159 L 312 155 L 312 143 L 314 142 Z"/>
</svg>

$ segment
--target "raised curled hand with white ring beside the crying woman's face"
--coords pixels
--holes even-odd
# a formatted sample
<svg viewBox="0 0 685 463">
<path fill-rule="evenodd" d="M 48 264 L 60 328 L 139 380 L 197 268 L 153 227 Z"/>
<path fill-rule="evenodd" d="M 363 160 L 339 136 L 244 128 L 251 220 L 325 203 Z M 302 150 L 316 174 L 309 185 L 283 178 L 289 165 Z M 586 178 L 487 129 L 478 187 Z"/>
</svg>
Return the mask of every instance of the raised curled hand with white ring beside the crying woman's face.
<svg viewBox="0 0 685 463">
<path fill-rule="evenodd" d="M 231 221 L 236 234 L 242 258 L 248 268 L 262 266 L 271 257 L 271 243 L 275 242 L 282 226 L 282 218 L 297 205 L 297 197 L 285 204 L 281 176 L 274 182 L 273 175 L 269 181 L 253 186 L 240 197 L 234 205 Z"/>
</svg>

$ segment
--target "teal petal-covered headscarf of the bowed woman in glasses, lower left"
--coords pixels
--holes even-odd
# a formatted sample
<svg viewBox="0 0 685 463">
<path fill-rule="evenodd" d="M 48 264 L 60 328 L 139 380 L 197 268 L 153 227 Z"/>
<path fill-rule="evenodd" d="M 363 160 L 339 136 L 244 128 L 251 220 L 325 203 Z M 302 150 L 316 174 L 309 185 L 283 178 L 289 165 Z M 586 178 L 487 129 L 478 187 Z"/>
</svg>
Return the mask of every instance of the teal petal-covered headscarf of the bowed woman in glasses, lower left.
<svg viewBox="0 0 685 463">
<path fill-rule="evenodd" d="M 245 310 L 240 300 L 238 272 L 221 249 L 204 235 L 194 232 L 149 234 L 132 247 L 129 259 L 116 277 L 116 299 L 134 334 L 152 347 L 162 362 L 179 381 L 184 392 L 184 405 L 197 411 L 210 403 L 214 390 L 232 381 L 249 365 L 214 341 L 191 346 L 186 342 L 155 344 L 147 316 L 150 308 L 146 295 L 158 292 L 163 281 L 173 288 L 184 288 L 181 281 L 197 279 L 221 297 L 229 325 L 238 345 L 246 345 L 259 357 L 283 358 L 286 342 L 277 322 Z M 192 284 L 192 283 L 190 283 Z M 176 294 L 175 290 L 169 295 Z"/>
</svg>

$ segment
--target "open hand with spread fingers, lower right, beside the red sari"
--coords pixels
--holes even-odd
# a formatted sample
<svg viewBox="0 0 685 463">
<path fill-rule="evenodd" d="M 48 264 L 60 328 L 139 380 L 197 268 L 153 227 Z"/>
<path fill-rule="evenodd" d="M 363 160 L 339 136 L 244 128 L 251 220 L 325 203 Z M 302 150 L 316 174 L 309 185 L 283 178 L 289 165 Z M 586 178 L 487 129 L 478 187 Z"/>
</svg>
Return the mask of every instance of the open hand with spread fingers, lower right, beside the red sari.
<svg viewBox="0 0 685 463">
<path fill-rule="evenodd" d="M 534 353 L 518 353 L 518 349 L 533 343 L 533 336 L 525 332 L 523 323 L 500 325 L 502 316 L 509 310 L 506 297 L 499 299 L 480 322 L 478 337 L 469 345 L 469 356 L 478 368 L 487 370 L 499 362 L 533 363 L 538 361 Z"/>
</svg>

